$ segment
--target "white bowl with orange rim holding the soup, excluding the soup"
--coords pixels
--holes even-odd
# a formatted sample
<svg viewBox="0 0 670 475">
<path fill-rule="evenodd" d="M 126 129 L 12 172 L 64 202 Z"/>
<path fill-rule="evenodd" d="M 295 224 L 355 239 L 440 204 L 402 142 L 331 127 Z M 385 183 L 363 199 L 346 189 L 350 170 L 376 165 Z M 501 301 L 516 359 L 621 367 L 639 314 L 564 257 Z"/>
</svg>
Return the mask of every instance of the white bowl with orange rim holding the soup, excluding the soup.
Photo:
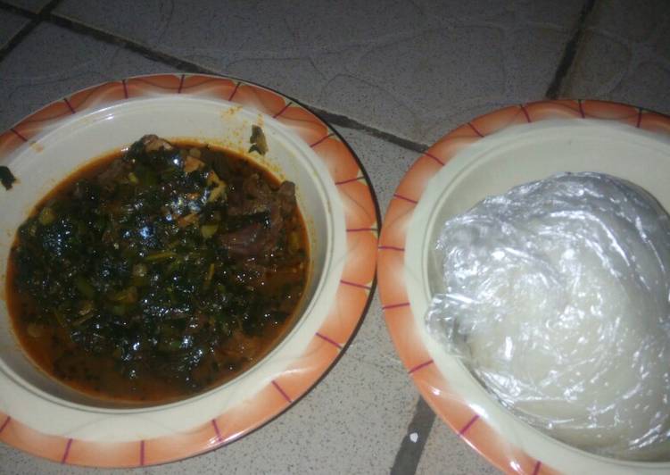
<svg viewBox="0 0 670 475">
<path fill-rule="evenodd" d="M 60 114 L 64 105 L 76 113 Z M 49 119 L 40 121 L 45 116 Z M 351 179 L 362 173 L 333 132 L 262 87 L 206 76 L 135 78 L 92 87 L 22 121 L 0 138 L 0 151 L 5 146 L 0 164 L 18 179 L 11 190 L 0 190 L 0 269 L 4 272 L 15 230 L 30 210 L 82 164 L 147 133 L 245 154 L 252 124 L 261 125 L 269 146 L 268 154 L 252 158 L 294 181 L 308 228 L 310 280 L 294 327 L 261 362 L 226 384 L 177 403 L 133 409 L 80 394 L 37 370 L 18 346 L 2 302 L 0 439 L 70 463 L 167 462 L 244 435 L 284 411 L 327 371 L 352 336 L 367 302 L 368 276 L 374 274 L 373 259 L 365 262 L 367 271 L 345 276 L 358 252 L 348 242 L 347 224 L 369 221 L 368 235 L 376 241 L 374 205 L 370 216 L 361 216 L 348 204 L 352 196 L 372 203 L 365 179 L 349 194 L 336 183 L 343 171 L 332 165 L 335 160 L 349 165 L 345 173 Z M 7 153 L 17 138 L 21 146 Z M 362 304 L 358 297 L 352 302 L 352 316 L 344 318 L 335 308 L 335 296 L 348 292 L 342 279 L 367 291 Z"/>
</svg>

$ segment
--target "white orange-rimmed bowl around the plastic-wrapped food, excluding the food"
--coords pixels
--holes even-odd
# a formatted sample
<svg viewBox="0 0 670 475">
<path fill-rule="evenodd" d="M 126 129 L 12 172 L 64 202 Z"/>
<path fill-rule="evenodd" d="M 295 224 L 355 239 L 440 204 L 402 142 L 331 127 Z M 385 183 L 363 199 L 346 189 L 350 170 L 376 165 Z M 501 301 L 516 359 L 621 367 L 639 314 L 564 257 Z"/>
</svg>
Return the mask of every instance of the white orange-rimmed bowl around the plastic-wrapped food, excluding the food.
<svg viewBox="0 0 670 475">
<path fill-rule="evenodd" d="M 658 127 L 670 129 L 670 121 L 653 114 L 653 130 L 641 129 L 629 122 L 640 125 L 643 112 L 628 106 L 587 104 L 596 117 L 611 106 L 629 112 L 619 121 L 605 121 L 584 119 L 579 112 L 584 104 L 571 105 L 575 107 L 529 104 L 494 112 L 451 132 L 418 159 L 398 188 L 380 238 L 378 273 L 386 321 L 428 403 L 500 469 L 667 472 L 670 462 L 588 454 L 519 421 L 426 331 L 426 310 L 442 282 L 434 265 L 437 234 L 444 221 L 484 197 L 559 171 L 599 171 L 644 187 L 670 209 L 670 135 Z"/>
</svg>

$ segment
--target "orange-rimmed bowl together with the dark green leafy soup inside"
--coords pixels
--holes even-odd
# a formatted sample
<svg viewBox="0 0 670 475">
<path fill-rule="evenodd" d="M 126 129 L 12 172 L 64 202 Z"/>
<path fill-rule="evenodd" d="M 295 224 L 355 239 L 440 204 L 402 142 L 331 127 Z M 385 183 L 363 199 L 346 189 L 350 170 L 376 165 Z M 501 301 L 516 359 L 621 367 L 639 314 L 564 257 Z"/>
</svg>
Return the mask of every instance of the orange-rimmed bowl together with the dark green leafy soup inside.
<svg viewBox="0 0 670 475">
<path fill-rule="evenodd" d="M 284 96 L 125 79 L 0 138 L 5 442 L 97 466 L 197 454 L 293 404 L 352 336 L 372 194 Z"/>
</svg>

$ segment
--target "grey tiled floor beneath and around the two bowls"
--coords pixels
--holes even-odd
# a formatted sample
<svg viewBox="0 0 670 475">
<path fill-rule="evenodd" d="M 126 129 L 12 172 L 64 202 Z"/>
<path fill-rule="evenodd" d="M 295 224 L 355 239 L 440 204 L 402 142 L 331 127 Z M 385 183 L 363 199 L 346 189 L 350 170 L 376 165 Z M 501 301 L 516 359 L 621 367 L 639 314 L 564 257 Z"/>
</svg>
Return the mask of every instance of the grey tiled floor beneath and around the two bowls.
<svg viewBox="0 0 670 475">
<path fill-rule="evenodd" d="M 418 150 L 499 106 L 549 92 L 670 112 L 669 32 L 665 0 L 0 0 L 0 130 L 107 79 L 218 72 L 321 113 L 384 212 Z M 375 297 L 341 361 L 290 411 L 209 454 L 129 472 L 494 472 L 418 400 Z M 0 473 L 83 471 L 0 445 Z"/>
</svg>

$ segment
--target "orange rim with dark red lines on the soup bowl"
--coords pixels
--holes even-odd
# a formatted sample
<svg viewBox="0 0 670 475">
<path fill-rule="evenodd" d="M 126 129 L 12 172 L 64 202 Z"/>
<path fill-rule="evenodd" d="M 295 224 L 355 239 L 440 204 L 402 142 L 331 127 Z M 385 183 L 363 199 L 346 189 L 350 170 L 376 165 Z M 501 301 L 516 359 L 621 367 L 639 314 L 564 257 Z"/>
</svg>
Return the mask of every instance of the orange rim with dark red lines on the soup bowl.
<svg viewBox="0 0 670 475">
<path fill-rule="evenodd" d="M 335 190 L 331 199 L 339 198 L 342 205 L 343 229 L 337 232 L 343 235 L 344 255 L 335 268 L 339 272 L 335 292 L 337 300 L 346 299 L 350 304 L 346 309 L 335 304 L 327 309 L 304 353 L 286 362 L 283 371 L 258 392 L 184 433 L 146 440 L 91 442 L 45 434 L 0 408 L 0 440 L 11 446 L 56 462 L 99 467 L 145 466 L 206 452 L 260 428 L 305 396 L 342 356 L 360 327 L 376 283 L 374 251 L 380 214 L 374 190 L 360 160 L 343 138 L 305 106 L 277 91 L 241 79 L 186 73 L 104 82 L 45 105 L 0 134 L 0 162 L 26 147 L 39 146 L 39 137 L 57 131 L 73 115 L 99 112 L 138 98 L 160 100 L 178 95 L 233 103 L 261 114 L 310 149 L 312 159 L 325 170 L 328 186 Z M 2 193 L 4 190 L 0 190 Z M 161 406 L 151 409 L 155 408 L 160 410 Z"/>
</svg>

